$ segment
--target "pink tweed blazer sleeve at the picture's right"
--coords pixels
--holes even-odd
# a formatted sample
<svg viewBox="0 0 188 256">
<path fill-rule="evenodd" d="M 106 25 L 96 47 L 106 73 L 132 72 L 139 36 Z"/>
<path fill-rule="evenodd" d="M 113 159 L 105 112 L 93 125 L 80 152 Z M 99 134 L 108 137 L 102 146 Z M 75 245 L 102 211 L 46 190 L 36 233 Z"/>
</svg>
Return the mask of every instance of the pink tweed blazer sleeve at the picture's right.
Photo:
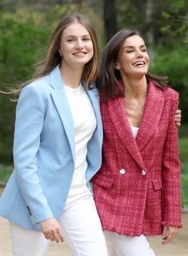
<svg viewBox="0 0 188 256">
<path fill-rule="evenodd" d="M 175 110 L 178 109 L 178 93 L 175 92 L 173 96 L 170 103 L 170 119 L 162 156 L 162 225 L 181 227 L 181 164 L 178 152 L 178 127 L 174 122 Z"/>
</svg>

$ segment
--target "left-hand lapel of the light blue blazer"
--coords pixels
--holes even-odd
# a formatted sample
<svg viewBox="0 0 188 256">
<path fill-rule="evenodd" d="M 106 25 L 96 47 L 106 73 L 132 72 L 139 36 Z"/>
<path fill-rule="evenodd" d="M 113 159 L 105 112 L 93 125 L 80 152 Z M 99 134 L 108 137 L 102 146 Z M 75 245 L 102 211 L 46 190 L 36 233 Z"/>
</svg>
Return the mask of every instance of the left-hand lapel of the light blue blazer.
<svg viewBox="0 0 188 256">
<path fill-rule="evenodd" d="M 65 128 L 66 136 L 70 143 L 70 150 L 74 159 L 74 121 L 72 118 L 69 103 L 66 99 L 66 92 L 64 90 L 58 66 L 50 73 L 50 86 L 52 86 L 54 89 L 51 91 L 51 96 L 58 110 L 58 114 L 62 120 L 62 125 Z"/>
</svg>

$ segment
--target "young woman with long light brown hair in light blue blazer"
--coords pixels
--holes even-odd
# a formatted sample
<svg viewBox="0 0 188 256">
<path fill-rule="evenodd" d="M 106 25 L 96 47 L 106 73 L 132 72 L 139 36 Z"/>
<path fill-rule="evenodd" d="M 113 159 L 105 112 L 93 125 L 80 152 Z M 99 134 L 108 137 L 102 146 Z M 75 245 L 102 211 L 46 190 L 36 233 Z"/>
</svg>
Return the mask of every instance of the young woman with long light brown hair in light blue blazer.
<svg viewBox="0 0 188 256">
<path fill-rule="evenodd" d="M 45 255 L 49 239 L 65 240 L 74 256 L 107 255 L 89 184 L 102 161 L 98 56 L 94 27 L 81 15 L 67 16 L 22 86 L 14 172 L 0 199 L 14 256 Z"/>
</svg>

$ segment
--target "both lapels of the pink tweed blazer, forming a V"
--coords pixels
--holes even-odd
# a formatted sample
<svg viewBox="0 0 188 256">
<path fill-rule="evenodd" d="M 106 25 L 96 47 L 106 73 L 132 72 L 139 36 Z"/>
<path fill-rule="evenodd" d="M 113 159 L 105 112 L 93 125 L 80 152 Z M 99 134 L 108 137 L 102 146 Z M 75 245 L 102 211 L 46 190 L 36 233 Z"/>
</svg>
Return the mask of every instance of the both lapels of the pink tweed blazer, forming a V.
<svg viewBox="0 0 188 256">
<path fill-rule="evenodd" d="M 146 143 L 154 133 L 155 126 L 159 122 L 162 114 L 163 104 L 162 90 L 154 86 L 153 82 L 150 82 L 142 122 L 139 126 L 137 137 L 134 139 L 124 110 L 124 98 L 118 97 L 107 101 L 107 107 L 111 122 L 114 124 L 114 129 L 126 146 L 126 149 L 129 150 L 134 160 L 138 162 L 138 165 L 142 169 L 145 169 L 145 166 L 142 160 L 141 150 L 146 146 Z"/>
</svg>

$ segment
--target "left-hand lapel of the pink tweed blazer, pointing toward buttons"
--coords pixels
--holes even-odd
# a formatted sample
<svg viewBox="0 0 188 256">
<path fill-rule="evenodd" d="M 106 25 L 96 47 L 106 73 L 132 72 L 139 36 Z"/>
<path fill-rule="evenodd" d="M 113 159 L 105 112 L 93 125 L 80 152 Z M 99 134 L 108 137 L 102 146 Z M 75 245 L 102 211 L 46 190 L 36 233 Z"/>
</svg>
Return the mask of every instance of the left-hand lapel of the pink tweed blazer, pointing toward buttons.
<svg viewBox="0 0 188 256">
<path fill-rule="evenodd" d="M 138 162 L 138 165 L 141 166 L 142 169 L 145 169 L 137 143 L 130 129 L 130 124 L 126 118 L 124 110 L 124 98 L 118 97 L 108 100 L 107 107 L 111 122 L 113 123 L 114 129 L 116 130 L 122 143 L 126 146 L 126 149 L 129 150 L 134 160 Z"/>
</svg>

